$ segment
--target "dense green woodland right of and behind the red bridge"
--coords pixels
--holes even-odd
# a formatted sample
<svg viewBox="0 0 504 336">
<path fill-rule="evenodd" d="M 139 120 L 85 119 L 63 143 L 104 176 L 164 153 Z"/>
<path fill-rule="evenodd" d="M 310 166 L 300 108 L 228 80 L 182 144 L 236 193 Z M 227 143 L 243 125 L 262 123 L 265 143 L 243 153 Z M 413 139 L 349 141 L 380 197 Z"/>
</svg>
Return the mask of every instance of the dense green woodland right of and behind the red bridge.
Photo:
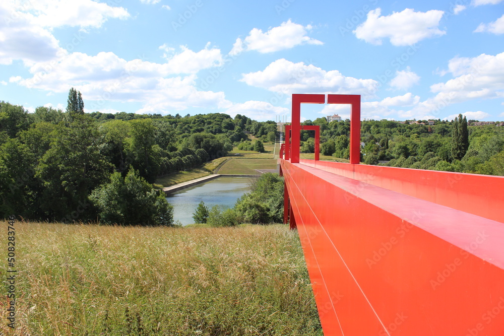
<svg viewBox="0 0 504 336">
<path fill-rule="evenodd" d="M 504 126 L 468 126 L 475 120 L 459 115 L 452 121 L 367 120 L 361 123 L 361 162 L 391 167 L 443 170 L 504 176 Z M 306 120 L 321 127 L 323 155 L 349 158 L 350 121 Z M 313 132 L 301 131 L 301 151 L 313 153 Z"/>
</svg>

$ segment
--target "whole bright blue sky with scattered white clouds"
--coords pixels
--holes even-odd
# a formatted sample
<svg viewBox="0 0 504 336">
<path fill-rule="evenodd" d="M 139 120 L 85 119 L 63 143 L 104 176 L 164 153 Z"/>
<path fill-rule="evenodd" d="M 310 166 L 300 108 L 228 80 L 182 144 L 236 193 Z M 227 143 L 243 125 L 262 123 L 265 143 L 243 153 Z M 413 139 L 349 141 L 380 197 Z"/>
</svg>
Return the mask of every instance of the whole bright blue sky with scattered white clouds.
<svg viewBox="0 0 504 336">
<path fill-rule="evenodd" d="M 290 117 L 360 94 L 362 119 L 504 120 L 504 0 L 4 0 L 0 100 Z M 303 105 L 303 119 L 344 105 Z"/>
</svg>

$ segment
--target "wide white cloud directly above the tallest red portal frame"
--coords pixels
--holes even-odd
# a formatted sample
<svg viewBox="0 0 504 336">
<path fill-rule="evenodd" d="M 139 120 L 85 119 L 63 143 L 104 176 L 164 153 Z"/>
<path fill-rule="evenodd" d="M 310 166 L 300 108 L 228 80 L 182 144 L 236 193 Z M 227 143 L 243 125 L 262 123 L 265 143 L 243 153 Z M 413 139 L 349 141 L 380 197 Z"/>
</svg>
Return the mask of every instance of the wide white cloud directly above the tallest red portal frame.
<svg viewBox="0 0 504 336">
<path fill-rule="evenodd" d="M 284 58 L 269 64 L 264 71 L 242 74 L 242 82 L 273 92 L 335 93 L 372 96 L 379 83 L 371 79 L 343 76 L 339 71 L 325 71 L 303 62 L 293 63 Z"/>
</svg>

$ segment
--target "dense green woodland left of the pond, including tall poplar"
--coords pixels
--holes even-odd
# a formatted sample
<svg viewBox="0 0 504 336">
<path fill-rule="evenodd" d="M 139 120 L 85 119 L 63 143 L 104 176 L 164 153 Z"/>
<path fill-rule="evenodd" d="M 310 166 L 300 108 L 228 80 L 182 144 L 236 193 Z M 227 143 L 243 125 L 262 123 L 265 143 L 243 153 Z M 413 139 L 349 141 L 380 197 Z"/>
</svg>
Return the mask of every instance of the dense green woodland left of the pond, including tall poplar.
<svg viewBox="0 0 504 336">
<path fill-rule="evenodd" d="M 253 144 L 245 131 L 266 140 L 276 123 L 222 113 L 88 114 L 74 89 L 66 111 L 37 107 L 28 113 L 2 101 L 0 215 L 171 225 L 171 206 L 151 183 L 225 156 L 241 143 L 257 148 L 260 140 Z"/>
</svg>

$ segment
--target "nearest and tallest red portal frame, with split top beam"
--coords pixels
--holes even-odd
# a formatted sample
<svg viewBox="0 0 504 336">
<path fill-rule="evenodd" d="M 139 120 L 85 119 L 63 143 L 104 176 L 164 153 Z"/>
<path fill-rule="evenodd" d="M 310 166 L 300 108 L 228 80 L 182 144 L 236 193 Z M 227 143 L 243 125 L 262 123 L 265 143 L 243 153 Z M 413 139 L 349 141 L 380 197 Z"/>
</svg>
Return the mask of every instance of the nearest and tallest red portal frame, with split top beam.
<svg viewBox="0 0 504 336">
<path fill-rule="evenodd" d="M 292 95 L 292 143 L 285 148 L 290 152 L 290 162 L 299 163 L 299 143 L 301 132 L 301 104 L 324 104 L 323 94 L 293 94 Z M 328 95 L 328 104 L 350 104 L 350 163 L 360 163 L 360 95 Z M 286 137 L 287 138 L 287 137 Z"/>
</svg>

